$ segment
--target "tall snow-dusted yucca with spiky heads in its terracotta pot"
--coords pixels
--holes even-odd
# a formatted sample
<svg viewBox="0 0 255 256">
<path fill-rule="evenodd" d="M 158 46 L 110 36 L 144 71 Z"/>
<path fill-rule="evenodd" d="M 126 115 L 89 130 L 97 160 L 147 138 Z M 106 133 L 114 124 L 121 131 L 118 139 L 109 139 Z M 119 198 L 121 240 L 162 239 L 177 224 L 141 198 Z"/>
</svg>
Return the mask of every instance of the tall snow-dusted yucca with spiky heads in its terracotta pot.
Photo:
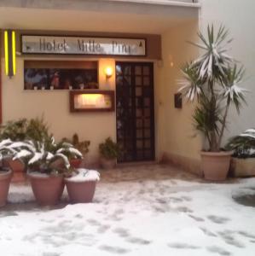
<svg viewBox="0 0 255 256">
<path fill-rule="evenodd" d="M 206 138 L 207 148 L 201 151 L 201 167 L 208 180 L 223 180 L 229 172 L 232 152 L 222 150 L 223 133 L 231 105 L 239 113 L 245 102 L 246 90 L 239 85 L 244 69 L 227 51 L 231 40 L 229 32 L 221 26 L 217 32 L 207 27 L 206 37 L 199 32 L 200 44 L 194 44 L 203 51 L 198 59 L 182 68 L 184 79 L 180 80 L 179 91 L 188 101 L 197 100 L 194 110 L 194 126 Z M 193 44 L 193 43 L 191 43 Z"/>
</svg>

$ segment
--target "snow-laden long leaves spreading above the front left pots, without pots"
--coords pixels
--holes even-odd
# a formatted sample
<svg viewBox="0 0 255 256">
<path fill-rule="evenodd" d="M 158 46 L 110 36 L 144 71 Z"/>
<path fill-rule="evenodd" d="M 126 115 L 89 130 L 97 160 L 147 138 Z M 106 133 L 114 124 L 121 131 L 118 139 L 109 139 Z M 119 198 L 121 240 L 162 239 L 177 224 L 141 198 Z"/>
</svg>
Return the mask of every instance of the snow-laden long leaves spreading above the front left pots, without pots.
<svg viewBox="0 0 255 256">
<path fill-rule="evenodd" d="M 4 156 L 12 155 L 13 160 L 22 160 L 30 172 L 42 172 L 47 174 L 72 172 L 67 155 L 77 155 L 79 158 L 82 154 L 78 149 L 73 148 L 70 143 L 55 143 L 54 137 L 50 137 L 43 142 L 24 141 L 13 142 L 10 139 L 3 140 L 0 143 L 0 160 Z M 61 163 L 55 165 L 56 160 Z"/>
</svg>

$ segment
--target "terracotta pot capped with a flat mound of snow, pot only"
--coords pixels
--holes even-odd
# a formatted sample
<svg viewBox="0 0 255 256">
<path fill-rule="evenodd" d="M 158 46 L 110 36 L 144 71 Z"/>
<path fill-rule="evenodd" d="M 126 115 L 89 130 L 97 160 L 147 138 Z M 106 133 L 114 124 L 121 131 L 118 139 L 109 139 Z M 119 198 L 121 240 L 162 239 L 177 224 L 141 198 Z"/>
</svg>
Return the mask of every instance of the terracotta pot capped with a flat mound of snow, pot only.
<svg viewBox="0 0 255 256">
<path fill-rule="evenodd" d="M 87 203 L 93 200 L 95 190 L 96 190 L 96 181 L 68 181 L 65 180 L 67 185 L 67 193 L 69 200 L 76 203 Z"/>
</svg>

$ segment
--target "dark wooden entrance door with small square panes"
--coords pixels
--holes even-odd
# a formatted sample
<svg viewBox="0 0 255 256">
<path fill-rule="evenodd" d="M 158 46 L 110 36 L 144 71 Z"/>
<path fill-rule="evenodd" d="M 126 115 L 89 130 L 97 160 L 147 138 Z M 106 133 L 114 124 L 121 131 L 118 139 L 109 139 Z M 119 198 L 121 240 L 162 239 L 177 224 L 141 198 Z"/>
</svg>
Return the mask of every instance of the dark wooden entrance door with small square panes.
<svg viewBox="0 0 255 256">
<path fill-rule="evenodd" d="M 154 64 L 116 63 L 119 162 L 154 160 Z"/>
</svg>

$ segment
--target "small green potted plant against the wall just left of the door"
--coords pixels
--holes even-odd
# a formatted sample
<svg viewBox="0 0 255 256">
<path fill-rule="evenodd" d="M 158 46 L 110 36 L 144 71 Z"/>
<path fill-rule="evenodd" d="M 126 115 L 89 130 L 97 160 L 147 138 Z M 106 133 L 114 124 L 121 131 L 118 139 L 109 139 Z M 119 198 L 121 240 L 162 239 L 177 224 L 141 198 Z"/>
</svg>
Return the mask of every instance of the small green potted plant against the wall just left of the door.
<svg viewBox="0 0 255 256">
<path fill-rule="evenodd" d="M 111 169 L 116 166 L 120 149 L 111 137 L 107 137 L 105 142 L 99 145 L 99 152 L 101 154 L 101 166 L 104 169 Z"/>
</svg>

